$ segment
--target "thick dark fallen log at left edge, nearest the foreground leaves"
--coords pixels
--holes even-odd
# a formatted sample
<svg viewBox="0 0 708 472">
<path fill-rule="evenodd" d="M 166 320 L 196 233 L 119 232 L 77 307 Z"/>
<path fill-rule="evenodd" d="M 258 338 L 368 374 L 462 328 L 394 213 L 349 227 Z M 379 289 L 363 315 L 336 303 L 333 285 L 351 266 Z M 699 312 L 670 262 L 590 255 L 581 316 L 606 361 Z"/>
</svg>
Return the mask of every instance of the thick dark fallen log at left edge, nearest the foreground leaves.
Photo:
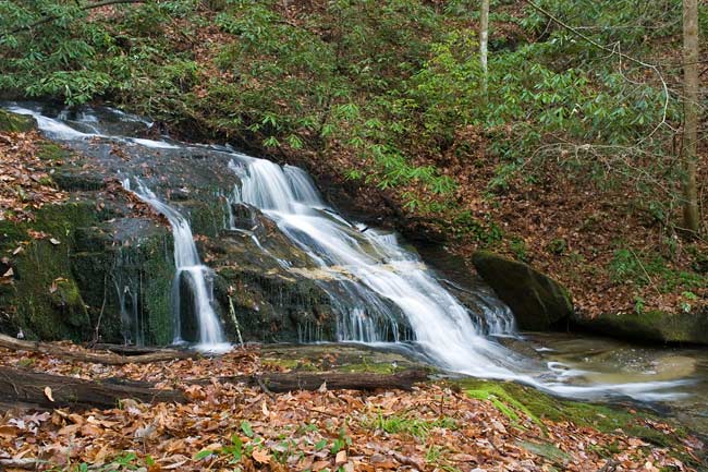
<svg viewBox="0 0 708 472">
<path fill-rule="evenodd" d="M 85 380 L 0 366 L 0 403 L 32 403 L 41 408 L 100 408 L 119 406 L 125 398 L 142 402 L 186 401 L 181 390 L 157 389 L 152 384 L 122 379 Z"/>
</svg>

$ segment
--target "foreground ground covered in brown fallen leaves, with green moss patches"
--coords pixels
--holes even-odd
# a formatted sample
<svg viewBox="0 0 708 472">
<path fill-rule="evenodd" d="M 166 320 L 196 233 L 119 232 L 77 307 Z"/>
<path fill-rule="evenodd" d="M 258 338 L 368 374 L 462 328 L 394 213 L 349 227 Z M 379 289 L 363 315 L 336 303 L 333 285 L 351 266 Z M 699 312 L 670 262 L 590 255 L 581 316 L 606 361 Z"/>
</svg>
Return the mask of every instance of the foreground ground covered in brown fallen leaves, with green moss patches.
<svg viewBox="0 0 708 472">
<path fill-rule="evenodd" d="M 298 352 L 288 362 L 282 352 L 272 360 L 251 346 L 217 358 L 122 366 L 0 350 L 3 366 L 97 382 L 143 380 L 187 397 L 183 404 L 127 399 L 109 410 L 10 409 L 0 413 L 0 469 L 658 472 L 700 467 L 701 443 L 673 425 L 640 411 L 571 402 L 565 403 L 583 407 L 583 419 L 551 419 L 563 402 L 550 399 L 554 407 L 544 412 L 517 396 L 523 387 L 514 384 L 431 382 L 411 391 L 371 392 L 322 385 L 276 395 L 217 380 L 305 366 L 366 371 L 351 356 L 340 360 L 339 349 L 324 355 L 315 349 L 314 358 Z M 361 353 L 359 362 L 366 355 Z M 212 380 L 191 383 L 204 378 Z"/>
</svg>

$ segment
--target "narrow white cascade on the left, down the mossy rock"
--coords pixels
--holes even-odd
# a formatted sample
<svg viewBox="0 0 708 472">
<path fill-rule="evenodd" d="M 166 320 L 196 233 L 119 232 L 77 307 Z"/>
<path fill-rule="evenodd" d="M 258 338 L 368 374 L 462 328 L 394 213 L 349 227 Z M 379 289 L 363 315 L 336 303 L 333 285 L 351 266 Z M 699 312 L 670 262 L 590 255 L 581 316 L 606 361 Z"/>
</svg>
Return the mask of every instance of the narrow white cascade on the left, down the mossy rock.
<svg viewBox="0 0 708 472">
<path fill-rule="evenodd" d="M 182 283 L 186 282 L 193 299 L 194 315 L 198 326 L 197 349 L 205 351 L 221 351 L 229 349 L 221 329 L 219 318 L 213 311 L 212 288 L 208 278 L 209 269 L 202 264 L 197 247 L 194 244 L 188 221 L 174 208 L 160 201 L 157 195 L 139 179 L 135 178 L 137 187 L 131 189 L 131 180 L 125 179 L 123 186 L 135 193 L 143 202 L 163 215 L 172 227 L 174 239 L 174 266 L 176 268 L 173 282 L 172 303 L 174 316 L 174 342 L 182 339 Z"/>
</svg>

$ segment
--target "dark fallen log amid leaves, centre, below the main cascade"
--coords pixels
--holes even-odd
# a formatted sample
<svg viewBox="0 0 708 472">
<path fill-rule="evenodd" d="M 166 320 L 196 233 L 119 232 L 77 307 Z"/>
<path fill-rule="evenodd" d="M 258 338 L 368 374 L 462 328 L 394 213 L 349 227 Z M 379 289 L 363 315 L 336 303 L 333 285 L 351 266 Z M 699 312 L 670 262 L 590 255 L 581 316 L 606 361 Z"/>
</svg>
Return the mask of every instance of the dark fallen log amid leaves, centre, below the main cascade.
<svg viewBox="0 0 708 472">
<path fill-rule="evenodd" d="M 217 382 L 246 384 L 270 392 L 317 390 L 322 385 L 329 390 L 411 390 L 413 384 L 425 382 L 428 373 L 423 368 L 408 368 L 395 374 L 347 374 L 340 372 L 268 372 L 260 375 L 218 377 Z M 210 379 L 185 380 L 186 384 L 208 384 Z"/>
</svg>

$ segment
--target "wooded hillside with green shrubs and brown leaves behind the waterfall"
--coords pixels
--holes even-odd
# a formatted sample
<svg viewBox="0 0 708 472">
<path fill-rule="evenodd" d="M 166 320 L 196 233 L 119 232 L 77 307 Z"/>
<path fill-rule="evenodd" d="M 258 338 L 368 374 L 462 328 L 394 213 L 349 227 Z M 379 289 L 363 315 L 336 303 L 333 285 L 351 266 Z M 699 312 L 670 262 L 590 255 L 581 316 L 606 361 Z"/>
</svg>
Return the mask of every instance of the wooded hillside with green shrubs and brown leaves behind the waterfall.
<svg viewBox="0 0 708 472">
<path fill-rule="evenodd" d="M 476 1 L 100 3 L 1 0 L 3 98 L 301 165 L 359 218 L 533 264 L 587 316 L 706 310 L 708 244 L 681 228 L 680 0 L 491 1 L 486 87 Z"/>
</svg>

